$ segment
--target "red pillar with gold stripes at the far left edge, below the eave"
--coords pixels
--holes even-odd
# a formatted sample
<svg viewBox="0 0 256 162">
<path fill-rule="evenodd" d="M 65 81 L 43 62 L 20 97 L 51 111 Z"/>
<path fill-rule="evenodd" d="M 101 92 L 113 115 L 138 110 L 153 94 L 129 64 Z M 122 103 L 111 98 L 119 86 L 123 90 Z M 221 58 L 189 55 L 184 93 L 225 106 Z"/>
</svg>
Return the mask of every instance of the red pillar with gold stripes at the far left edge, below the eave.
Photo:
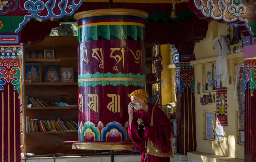
<svg viewBox="0 0 256 162">
<path fill-rule="evenodd" d="M 20 161 L 20 34 L 0 33 L 0 161 Z"/>
</svg>

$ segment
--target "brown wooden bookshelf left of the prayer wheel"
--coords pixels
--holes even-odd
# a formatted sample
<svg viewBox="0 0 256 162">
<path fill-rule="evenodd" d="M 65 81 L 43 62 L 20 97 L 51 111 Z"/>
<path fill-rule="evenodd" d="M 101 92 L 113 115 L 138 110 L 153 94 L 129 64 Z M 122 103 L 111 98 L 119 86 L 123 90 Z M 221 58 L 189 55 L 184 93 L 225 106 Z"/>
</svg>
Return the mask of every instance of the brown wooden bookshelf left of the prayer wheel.
<svg viewBox="0 0 256 162">
<path fill-rule="evenodd" d="M 78 130 L 71 130 L 69 129 L 71 126 L 65 125 L 69 120 L 75 123 L 78 122 L 78 83 L 75 82 L 75 79 L 72 82 L 61 82 L 61 74 L 59 74 L 59 82 L 44 82 L 44 77 L 46 77 L 44 74 L 45 66 L 72 67 L 73 77 L 75 77 L 75 73 L 78 71 L 77 37 L 46 37 L 43 42 L 25 45 L 23 54 L 31 54 L 32 52 L 41 52 L 42 54 L 45 49 L 54 50 L 54 57 L 25 58 L 25 55 L 22 55 L 23 153 L 26 157 L 31 157 L 27 156 L 26 153 L 33 153 L 36 157 L 39 155 L 55 156 L 58 155 L 56 154 L 58 152 L 69 155 L 85 152 L 86 150 L 73 150 L 69 143 L 63 143 L 67 139 L 78 138 Z M 39 64 L 41 67 L 41 73 L 38 75 L 41 77 L 40 82 L 28 82 L 32 80 L 26 80 L 28 78 L 26 77 L 26 74 L 28 74 L 25 69 L 26 64 Z M 48 105 L 48 107 L 43 107 L 41 105 L 28 107 L 26 106 L 26 96 L 40 101 L 65 102 L 70 106 Z M 49 126 L 53 126 L 50 121 L 56 121 L 58 118 L 65 121 L 63 124 L 68 130 L 53 131 L 49 128 Z M 40 125 L 38 124 L 38 126 L 34 119 L 46 121 L 44 126 L 49 122 L 49 130 L 38 131 Z M 32 122 L 30 122 L 31 125 L 28 124 L 28 120 L 33 121 L 33 125 Z M 33 132 L 29 132 L 28 129 L 33 129 Z M 94 151 L 87 151 L 87 153 L 94 154 Z"/>
</svg>

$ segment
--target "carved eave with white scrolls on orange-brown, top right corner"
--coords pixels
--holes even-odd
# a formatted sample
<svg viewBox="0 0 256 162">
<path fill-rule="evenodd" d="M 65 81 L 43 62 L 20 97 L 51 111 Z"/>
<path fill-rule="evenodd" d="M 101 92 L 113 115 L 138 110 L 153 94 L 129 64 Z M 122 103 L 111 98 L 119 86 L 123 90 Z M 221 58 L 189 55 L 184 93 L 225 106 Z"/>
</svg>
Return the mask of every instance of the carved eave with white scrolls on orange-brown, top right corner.
<svg viewBox="0 0 256 162">
<path fill-rule="evenodd" d="M 255 0 L 189 0 L 188 4 L 197 18 L 237 26 L 244 36 L 256 35 Z"/>
</svg>

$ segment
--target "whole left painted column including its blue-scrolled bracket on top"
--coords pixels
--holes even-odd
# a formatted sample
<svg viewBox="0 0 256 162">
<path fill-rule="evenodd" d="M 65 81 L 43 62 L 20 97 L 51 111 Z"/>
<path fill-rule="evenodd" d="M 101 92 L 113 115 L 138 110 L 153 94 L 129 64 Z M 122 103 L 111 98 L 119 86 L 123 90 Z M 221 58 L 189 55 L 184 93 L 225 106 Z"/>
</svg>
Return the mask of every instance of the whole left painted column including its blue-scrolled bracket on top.
<svg viewBox="0 0 256 162">
<path fill-rule="evenodd" d="M 28 25 L 30 26 L 28 32 L 22 32 L 22 30 L 32 19 L 57 21 L 62 17 L 69 17 L 81 5 L 82 0 L 0 0 L 1 162 L 20 162 L 19 94 L 21 90 L 20 69 L 22 67 L 20 67 L 17 55 L 20 44 L 42 41 L 45 36 L 49 35 L 53 27 L 58 26 L 58 23 L 44 22 L 38 25 L 39 27 L 35 24 L 34 27 Z"/>
</svg>

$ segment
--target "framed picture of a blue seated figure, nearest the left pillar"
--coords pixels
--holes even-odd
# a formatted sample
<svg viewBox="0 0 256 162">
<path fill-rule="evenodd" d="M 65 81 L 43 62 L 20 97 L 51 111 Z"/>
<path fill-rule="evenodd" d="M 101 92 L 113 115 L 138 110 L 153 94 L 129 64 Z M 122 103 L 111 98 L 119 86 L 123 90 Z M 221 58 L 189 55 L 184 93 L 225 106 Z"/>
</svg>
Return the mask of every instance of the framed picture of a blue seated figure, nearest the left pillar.
<svg viewBox="0 0 256 162">
<path fill-rule="evenodd" d="M 42 82 L 41 63 L 25 63 L 25 80 L 31 83 Z"/>
</svg>

